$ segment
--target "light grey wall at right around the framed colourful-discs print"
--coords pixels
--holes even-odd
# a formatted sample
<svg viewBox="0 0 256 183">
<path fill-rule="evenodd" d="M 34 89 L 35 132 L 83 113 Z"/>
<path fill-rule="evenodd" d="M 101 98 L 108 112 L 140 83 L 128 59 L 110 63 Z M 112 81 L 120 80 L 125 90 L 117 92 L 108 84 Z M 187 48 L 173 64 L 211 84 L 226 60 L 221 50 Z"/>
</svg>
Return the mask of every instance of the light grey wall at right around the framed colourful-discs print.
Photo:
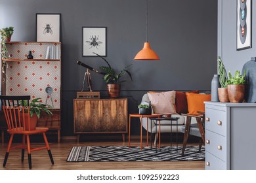
<svg viewBox="0 0 256 183">
<path fill-rule="evenodd" d="M 256 56 L 256 3 L 252 2 L 252 48 L 236 50 L 236 1 L 218 0 L 218 55 L 223 58 L 227 72 L 232 75 L 242 67 L 251 57 Z"/>
</svg>

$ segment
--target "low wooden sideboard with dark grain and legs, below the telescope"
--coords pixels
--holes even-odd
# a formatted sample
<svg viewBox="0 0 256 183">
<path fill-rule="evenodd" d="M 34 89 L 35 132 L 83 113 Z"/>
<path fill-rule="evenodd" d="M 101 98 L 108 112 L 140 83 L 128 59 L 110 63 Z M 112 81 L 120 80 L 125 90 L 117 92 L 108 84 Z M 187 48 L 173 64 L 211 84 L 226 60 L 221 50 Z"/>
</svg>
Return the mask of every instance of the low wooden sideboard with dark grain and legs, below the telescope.
<svg viewBox="0 0 256 183">
<path fill-rule="evenodd" d="M 74 133 L 127 133 L 127 99 L 74 99 Z"/>
</svg>

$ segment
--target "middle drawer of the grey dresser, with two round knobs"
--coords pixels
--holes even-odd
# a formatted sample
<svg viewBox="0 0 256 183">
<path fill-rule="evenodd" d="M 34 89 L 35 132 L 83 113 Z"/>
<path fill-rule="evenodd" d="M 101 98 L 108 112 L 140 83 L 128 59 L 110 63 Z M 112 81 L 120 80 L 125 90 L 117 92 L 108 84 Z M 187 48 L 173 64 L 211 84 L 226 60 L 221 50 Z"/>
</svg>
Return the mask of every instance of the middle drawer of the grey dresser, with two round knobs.
<svg viewBox="0 0 256 183">
<path fill-rule="evenodd" d="M 205 151 L 226 161 L 226 137 L 205 130 Z"/>
</svg>

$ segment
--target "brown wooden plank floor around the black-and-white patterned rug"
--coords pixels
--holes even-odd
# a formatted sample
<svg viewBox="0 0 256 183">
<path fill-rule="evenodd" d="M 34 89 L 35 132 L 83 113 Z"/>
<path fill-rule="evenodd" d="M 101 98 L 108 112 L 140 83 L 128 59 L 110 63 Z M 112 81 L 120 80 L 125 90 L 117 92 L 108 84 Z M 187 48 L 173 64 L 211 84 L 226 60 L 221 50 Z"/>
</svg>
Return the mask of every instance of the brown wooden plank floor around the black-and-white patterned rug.
<svg viewBox="0 0 256 183">
<path fill-rule="evenodd" d="M 163 145 L 169 145 L 161 143 Z M 38 146 L 39 143 L 32 143 L 32 146 Z M 204 161 L 158 161 L 158 162 L 79 162 L 71 163 L 66 162 L 66 158 L 72 148 L 72 146 L 100 146 L 100 145 L 128 145 L 127 142 L 61 142 L 51 143 L 51 152 L 54 158 L 54 165 L 51 165 L 47 150 L 39 150 L 32 152 L 32 169 L 33 170 L 114 170 L 114 169 L 175 169 L 175 170 L 187 170 L 187 169 L 204 169 Z M 139 141 L 132 142 L 133 146 L 139 146 Z M 189 144 L 188 144 L 189 145 Z M 25 152 L 24 163 L 21 163 L 21 150 L 12 150 L 9 154 L 6 167 L 3 167 L 3 159 L 5 157 L 5 150 L 7 144 L 0 144 L 0 170 L 27 170 L 28 169 L 28 157 Z"/>
</svg>

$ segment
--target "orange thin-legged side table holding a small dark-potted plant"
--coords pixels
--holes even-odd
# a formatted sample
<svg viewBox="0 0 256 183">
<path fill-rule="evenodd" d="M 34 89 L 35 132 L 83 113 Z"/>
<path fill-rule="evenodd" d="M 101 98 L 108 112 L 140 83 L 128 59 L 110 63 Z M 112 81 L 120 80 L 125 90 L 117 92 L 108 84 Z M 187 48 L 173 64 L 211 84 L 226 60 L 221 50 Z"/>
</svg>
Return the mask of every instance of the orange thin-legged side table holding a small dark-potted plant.
<svg viewBox="0 0 256 183">
<path fill-rule="evenodd" d="M 131 118 L 140 118 L 140 150 L 142 150 L 142 118 L 147 118 L 146 121 L 146 145 L 148 146 L 148 118 L 157 118 L 158 114 L 141 115 L 141 114 L 129 114 L 129 147 L 131 145 Z"/>
</svg>

